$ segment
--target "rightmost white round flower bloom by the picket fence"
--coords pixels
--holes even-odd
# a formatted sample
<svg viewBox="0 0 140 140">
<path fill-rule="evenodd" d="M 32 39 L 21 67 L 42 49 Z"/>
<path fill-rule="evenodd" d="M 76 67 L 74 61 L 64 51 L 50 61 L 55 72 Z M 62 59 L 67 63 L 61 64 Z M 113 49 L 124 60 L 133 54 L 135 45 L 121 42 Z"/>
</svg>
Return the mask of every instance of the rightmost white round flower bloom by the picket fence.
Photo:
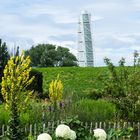
<svg viewBox="0 0 140 140">
<path fill-rule="evenodd" d="M 106 140 L 107 134 L 103 129 L 97 128 L 94 129 L 94 137 L 97 138 L 98 140 Z"/>
</svg>

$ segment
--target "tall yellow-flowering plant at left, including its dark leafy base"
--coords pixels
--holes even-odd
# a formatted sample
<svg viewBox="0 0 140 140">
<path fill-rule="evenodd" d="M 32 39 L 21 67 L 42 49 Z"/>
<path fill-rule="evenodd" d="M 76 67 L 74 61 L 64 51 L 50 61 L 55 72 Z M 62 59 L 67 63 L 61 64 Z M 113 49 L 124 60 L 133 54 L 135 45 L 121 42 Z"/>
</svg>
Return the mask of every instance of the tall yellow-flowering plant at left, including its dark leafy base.
<svg viewBox="0 0 140 140">
<path fill-rule="evenodd" d="M 24 54 L 11 57 L 4 69 L 2 77 L 2 95 L 5 100 L 6 109 L 10 111 L 9 132 L 11 140 L 21 139 L 20 113 L 28 104 L 32 91 L 26 91 L 34 77 L 29 78 L 29 57 Z"/>
</svg>

